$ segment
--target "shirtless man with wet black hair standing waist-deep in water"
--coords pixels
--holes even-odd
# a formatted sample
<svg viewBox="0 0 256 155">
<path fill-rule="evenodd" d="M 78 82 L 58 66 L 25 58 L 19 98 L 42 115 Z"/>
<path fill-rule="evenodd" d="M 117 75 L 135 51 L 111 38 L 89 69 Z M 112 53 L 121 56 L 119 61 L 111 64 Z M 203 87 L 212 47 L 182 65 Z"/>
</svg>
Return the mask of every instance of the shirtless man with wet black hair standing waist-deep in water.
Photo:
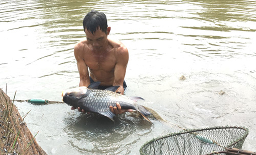
<svg viewBox="0 0 256 155">
<path fill-rule="evenodd" d="M 87 87 L 94 81 L 100 81 L 99 89 L 120 85 L 116 92 L 124 94 L 124 78 L 129 60 L 127 48 L 119 41 L 108 39 L 111 28 L 108 27 L 103 12 L 90 11 L 83 20 L 83 27 L 86 40 L 78 42 L 74 47 L 80 75 L 79 86 Z M 78 110 L 84 112 L 80 107 Z M 119 103 L 117 106 L 110 106 L 110 110 L 116 115 L 131 111 L 122 110 Z"/>
</svg>

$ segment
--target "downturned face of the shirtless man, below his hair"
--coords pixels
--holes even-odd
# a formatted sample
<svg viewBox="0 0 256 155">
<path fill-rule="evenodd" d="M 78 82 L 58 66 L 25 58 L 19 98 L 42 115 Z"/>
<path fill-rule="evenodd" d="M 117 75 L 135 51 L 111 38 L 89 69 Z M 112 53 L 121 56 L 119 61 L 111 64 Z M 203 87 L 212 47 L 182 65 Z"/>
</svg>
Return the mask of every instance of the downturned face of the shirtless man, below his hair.
<svg viewBox="0 0 256 155">
<path fill-rule="evenodd" d="M 107 37 L 108 37 L 109 31 L 107 30 L 107 34 L 106 34 L 105 32 L 102 32 L 101 29 L 98 28 L 95 31 L 95 33 L 92 34 L 91 31 L 88 31 L 87 29 L 85 29 L 86 39 L 94 50 L 101 50 L 107 43 Z"/>
</svg>

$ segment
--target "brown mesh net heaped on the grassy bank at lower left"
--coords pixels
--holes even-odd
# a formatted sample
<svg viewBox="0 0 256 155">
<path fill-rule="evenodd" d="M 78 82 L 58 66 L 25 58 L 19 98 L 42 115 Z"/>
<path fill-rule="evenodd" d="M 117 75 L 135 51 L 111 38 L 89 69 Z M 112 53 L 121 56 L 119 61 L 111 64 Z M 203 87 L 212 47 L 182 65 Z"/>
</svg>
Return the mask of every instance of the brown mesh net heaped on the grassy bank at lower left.
<svg viewBox="0 0 256 155">
<path fill-rule="evenodd" d="M 46 155 L 30 133 L 15 105 L 0 89 L 0 154 Z"/>
</svg>

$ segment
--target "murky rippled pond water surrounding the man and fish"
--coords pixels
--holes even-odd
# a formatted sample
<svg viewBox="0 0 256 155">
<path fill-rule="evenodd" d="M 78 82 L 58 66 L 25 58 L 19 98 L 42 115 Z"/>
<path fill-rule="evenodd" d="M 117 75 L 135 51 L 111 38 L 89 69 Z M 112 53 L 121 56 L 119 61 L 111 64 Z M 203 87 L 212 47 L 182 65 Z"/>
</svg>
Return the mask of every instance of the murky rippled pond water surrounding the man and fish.
<svg viewBox="0 0 256 155">
<path fill-rule="evenodd" d="M 1 0 L 0 88 L 8 83 L 11 99 L 17 90 L 17 100 L 61 101 L 79 84 L 73 47 L 92 9 L 128 48 L 125 95 L 183 128 L 247 127 L 243 149 L 256 151 L 255 0 Z M 25 122 L 50 155 L 139 154 L 152 138 L 182 131 L 128 113 L 113 124 L 61 103 L 15 105 L 31 110 Z"/>
</svg>

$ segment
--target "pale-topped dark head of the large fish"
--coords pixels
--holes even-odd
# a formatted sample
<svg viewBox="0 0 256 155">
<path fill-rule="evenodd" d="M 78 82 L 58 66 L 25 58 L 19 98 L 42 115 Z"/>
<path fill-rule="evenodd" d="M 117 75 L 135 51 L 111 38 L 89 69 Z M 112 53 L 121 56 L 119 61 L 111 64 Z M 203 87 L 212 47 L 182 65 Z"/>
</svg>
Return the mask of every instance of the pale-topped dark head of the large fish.
<svg viewBox="0 0 256 155">
<path fill-rule="evenodd" d="M 77 107 L 77 103 L 80 99 L 89 95 L 90 90 L 85 86 L 76 87 L 62 92 L 62 101 L 70 106 Z"/>
</svg>

